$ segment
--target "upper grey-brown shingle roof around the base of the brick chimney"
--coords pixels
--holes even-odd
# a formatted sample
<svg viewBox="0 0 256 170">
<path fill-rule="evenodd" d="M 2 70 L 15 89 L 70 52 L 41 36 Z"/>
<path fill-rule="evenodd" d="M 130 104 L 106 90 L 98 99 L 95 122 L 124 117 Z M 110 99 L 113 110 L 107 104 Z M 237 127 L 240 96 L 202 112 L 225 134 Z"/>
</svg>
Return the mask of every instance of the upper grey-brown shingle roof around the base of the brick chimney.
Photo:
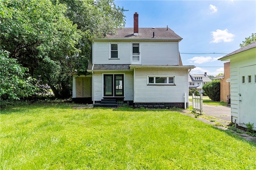
<svg viewBox="0 0 256 170">
<path fill-rule="evenodd" d="M 110 35 L 108 34 L 105 38 L 111 39 L 120 39 L 120 38 L 134 38 L 134 39 L 143 39 L 143 38 L 153 38 L 153 32 L 155 38 L 165 38 L 165 39 L 179 39 L 182 38 L 174 33 L 172 29 L 168 28 L 139 28 L 139 34 L 133 35 L 133 28 L 117 28 L 117 34 Z"/>
</svg>

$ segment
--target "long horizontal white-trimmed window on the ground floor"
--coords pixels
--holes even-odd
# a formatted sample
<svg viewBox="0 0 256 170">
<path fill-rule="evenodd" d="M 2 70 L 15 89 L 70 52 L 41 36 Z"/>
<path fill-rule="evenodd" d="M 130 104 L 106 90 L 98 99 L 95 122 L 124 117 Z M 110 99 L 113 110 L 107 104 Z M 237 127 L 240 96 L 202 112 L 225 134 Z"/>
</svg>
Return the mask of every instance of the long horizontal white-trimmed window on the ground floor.
<svg viewBox="0 0 256 170">
<path fill-rule="evenodd" d="M 175 85 L 175 76 L 148 76 L 148 85 Z"/>
</svg>

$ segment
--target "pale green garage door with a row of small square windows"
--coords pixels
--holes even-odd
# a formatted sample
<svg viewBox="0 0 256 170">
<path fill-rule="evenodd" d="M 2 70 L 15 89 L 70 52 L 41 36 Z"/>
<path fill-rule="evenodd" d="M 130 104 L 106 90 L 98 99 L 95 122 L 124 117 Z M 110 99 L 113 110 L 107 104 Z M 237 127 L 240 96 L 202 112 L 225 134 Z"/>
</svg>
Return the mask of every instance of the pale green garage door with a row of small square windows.
<svg viewBox="0 0 256 170">
<path fill-rule="evenodd" d="M 240 123 L 254 123 L 256 127 L 256 65 L 239 69 L 239 114 Z"/>
</svg>

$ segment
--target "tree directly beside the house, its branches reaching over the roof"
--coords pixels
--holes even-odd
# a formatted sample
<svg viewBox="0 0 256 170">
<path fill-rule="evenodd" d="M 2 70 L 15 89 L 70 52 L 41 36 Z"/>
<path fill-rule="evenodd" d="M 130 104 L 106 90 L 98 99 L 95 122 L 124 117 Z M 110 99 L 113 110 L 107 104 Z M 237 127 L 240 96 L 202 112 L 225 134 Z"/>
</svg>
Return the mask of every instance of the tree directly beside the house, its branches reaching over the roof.
<svg viewBox="0 0 256 170">
<path fill-rule="evenodd" d="M 116 7 L 114 0 L 60 0 L 67 6 L 66 17 L 81 30 L 81 38 L 76 47 L 80 50 L 74 61 L 76 72 L 86 74 L 91 55 L 89 39 L 100 38 L 114 33 L 116 27 L 124 27 L 124 8 Z"/>
</svg>

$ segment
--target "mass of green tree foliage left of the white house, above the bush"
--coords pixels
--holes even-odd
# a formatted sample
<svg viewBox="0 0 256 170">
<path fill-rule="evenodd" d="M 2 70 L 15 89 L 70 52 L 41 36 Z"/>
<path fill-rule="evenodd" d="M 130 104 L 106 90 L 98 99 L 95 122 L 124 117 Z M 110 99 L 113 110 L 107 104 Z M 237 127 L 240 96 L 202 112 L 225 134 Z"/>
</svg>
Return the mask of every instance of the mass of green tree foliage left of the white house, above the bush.
<svg viewBox="0 0 256 170">
<path fill-rule="evenodd" d="M 1 56 L 15 59 L 28 72 L 24 78 L 48 84 L 56 97 L 69 97 L 70 73 L 86 73 L 89 39 L 123 26 L 123 12 L 113 0 L 2 0 Z"/>
</svg>

